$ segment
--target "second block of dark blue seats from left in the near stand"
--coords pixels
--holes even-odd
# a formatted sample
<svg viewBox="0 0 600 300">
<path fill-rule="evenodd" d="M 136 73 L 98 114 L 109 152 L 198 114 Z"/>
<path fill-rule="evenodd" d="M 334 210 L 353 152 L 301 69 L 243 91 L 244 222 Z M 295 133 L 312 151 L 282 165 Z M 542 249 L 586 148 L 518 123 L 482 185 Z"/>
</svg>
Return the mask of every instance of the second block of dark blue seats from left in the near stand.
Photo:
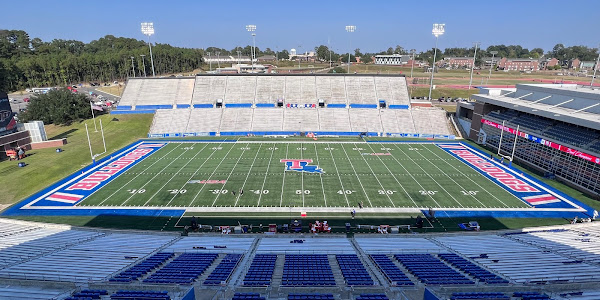
<svg viewBox="0 0 600 300">
<path fill-rule="evenodd" d="M 144 279 L 144 282 L 191 284 L 208 269 L 217 256 L 217 253 L 183 253 Z"/>
</svg>

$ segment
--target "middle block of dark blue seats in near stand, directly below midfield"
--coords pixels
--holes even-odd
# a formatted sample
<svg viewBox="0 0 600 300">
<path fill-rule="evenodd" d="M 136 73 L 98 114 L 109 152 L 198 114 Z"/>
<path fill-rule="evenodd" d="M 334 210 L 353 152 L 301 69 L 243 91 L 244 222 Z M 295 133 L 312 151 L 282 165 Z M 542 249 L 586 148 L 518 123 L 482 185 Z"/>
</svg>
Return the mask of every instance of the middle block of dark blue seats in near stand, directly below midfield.
<svg viewBox="0 0 600 300">
<path fill-rule="evenodd" d="M 326 254 L 290 254 L 283 265 L 283 286 L 335 285 Z"/>
</svg>

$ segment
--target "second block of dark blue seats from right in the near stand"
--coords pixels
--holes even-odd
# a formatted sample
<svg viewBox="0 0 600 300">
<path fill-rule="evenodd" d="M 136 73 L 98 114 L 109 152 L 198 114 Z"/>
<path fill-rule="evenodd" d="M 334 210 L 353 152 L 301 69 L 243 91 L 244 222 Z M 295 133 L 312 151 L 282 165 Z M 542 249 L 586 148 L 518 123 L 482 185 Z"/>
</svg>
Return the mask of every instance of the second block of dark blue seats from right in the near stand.
<svg viewBox="0 0 600 300">
<path fill-rule="evenodd" d="M 394 257 L 421 282 L 428 285 L 473 284 L 431 254 L 396 254 Z"/>
</svg>

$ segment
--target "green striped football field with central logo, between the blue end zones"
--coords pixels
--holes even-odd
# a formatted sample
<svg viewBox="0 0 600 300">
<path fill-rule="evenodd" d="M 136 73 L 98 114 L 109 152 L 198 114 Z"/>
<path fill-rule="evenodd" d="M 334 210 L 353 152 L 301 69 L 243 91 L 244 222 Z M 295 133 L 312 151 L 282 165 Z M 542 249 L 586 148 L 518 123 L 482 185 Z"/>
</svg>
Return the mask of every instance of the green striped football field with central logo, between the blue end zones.
<svg viewBox="0 0 600 300">
<path fill-rule="evenodd" d="M 312 160 L 304 168 L 322 173 L 286 171 L 282 159 Z M 529 207 L 435 144 L 364 142 L 169 142 L 77 205 L 346 211 L 359 203 Z"/>
</svg>

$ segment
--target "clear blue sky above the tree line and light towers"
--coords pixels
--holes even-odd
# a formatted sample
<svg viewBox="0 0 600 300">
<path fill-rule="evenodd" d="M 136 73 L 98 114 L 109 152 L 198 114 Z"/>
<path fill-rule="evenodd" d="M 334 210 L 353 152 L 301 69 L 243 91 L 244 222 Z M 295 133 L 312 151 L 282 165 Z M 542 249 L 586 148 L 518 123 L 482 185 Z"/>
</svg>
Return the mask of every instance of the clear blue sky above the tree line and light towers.
<svg viewBox="0 0 600 300">
<path fill-rule="evenodd" d="M 140 22 L 152 21 L 153 42 L 232 49 L 252 43 L 245 25 L 257 25 L 256 45 L 307 51 L 331 42 L 336 52 L 401 45 L 432 48 L 433 23 L 445 23 L 439 47 L 471 47 L 480 41 L 550 50 L 555 44 L 598 47 L 598 0 L 504 1 L 155 1 L 0 0 L 0 29 L 31 37 L 84 42 L 104 35 L 143 39 Z M 355 25 L 348 34 L 345 25 Z M 350 36 L 351 35 L 351 36 Z"/>
</svg>

